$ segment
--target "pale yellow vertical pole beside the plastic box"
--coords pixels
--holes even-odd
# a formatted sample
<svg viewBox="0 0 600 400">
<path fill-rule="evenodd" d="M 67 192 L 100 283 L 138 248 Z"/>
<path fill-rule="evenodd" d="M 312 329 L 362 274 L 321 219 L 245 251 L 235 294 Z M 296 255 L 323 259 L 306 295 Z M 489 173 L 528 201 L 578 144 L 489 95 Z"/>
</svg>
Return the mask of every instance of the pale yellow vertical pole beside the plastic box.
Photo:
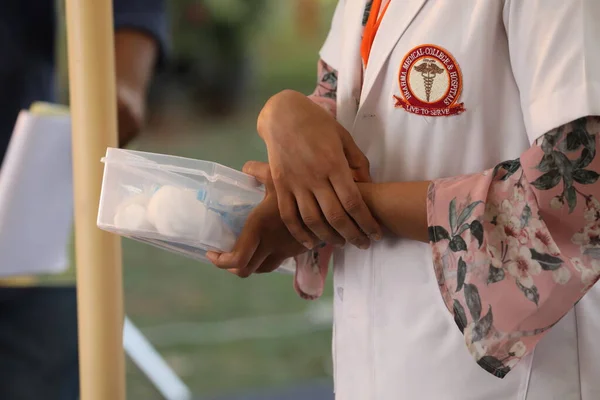
<svg viewBox="0 0 600 400">
<path fill-rule="evenodd" d="M 120 240 L 96 227 L 100 158 L 117 146 L 111 0 L 67 0 L 81 400 L 123 400 Z"/>
</svg>

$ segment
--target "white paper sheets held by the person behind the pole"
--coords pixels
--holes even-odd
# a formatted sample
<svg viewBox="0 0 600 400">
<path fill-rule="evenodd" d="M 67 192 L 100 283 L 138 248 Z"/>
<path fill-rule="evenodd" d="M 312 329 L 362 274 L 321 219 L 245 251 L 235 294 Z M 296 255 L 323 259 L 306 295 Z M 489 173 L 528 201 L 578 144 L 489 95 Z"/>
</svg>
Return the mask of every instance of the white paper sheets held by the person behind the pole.
<svg viewBox="0 0 600 400">
<path fill-rule="evenodd" d="M 70 116 L 22 111 L 0 168 L 0 276 L 67 269 L 71 165 Z"/>
</svg>

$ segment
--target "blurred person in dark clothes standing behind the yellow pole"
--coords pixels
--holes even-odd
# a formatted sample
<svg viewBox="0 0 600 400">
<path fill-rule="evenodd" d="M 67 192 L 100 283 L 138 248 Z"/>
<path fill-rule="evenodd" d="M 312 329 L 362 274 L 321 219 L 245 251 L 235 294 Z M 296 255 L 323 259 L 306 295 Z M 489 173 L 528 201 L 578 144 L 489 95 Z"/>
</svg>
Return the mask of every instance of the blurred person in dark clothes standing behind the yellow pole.
<svg viewBox="0 0 600 400">
<path fill-rule="evenodd" d="M 113 5 L 123 146 L 142 127 L 167 24 L 163 0 L 114 0 Z M 19 111 L 35 101 L 56 101 L 55 6 L 54 0 L 0 2 L 0 161 Z M 74 400 L 78 376 L 75 287 L 37 286 L 29 277 L 0 281 L 0 399 Z"/>
</svg>

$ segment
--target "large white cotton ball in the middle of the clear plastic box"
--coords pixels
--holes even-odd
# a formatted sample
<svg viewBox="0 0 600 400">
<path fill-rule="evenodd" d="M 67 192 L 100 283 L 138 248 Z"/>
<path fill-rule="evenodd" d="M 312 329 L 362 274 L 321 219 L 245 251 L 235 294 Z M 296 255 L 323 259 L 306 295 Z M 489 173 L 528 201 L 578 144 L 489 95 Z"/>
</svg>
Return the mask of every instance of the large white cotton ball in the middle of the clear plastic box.
<svg viewBox="0 0 600 400">
<path fill-rule="evenodd" d="M 210 244 L 229 250 L 235 236 L 221 217 L 210 211 L 191 190 L 161 187 L 148 203 L 148 220 L 162 235 Z"/>
</svg>

